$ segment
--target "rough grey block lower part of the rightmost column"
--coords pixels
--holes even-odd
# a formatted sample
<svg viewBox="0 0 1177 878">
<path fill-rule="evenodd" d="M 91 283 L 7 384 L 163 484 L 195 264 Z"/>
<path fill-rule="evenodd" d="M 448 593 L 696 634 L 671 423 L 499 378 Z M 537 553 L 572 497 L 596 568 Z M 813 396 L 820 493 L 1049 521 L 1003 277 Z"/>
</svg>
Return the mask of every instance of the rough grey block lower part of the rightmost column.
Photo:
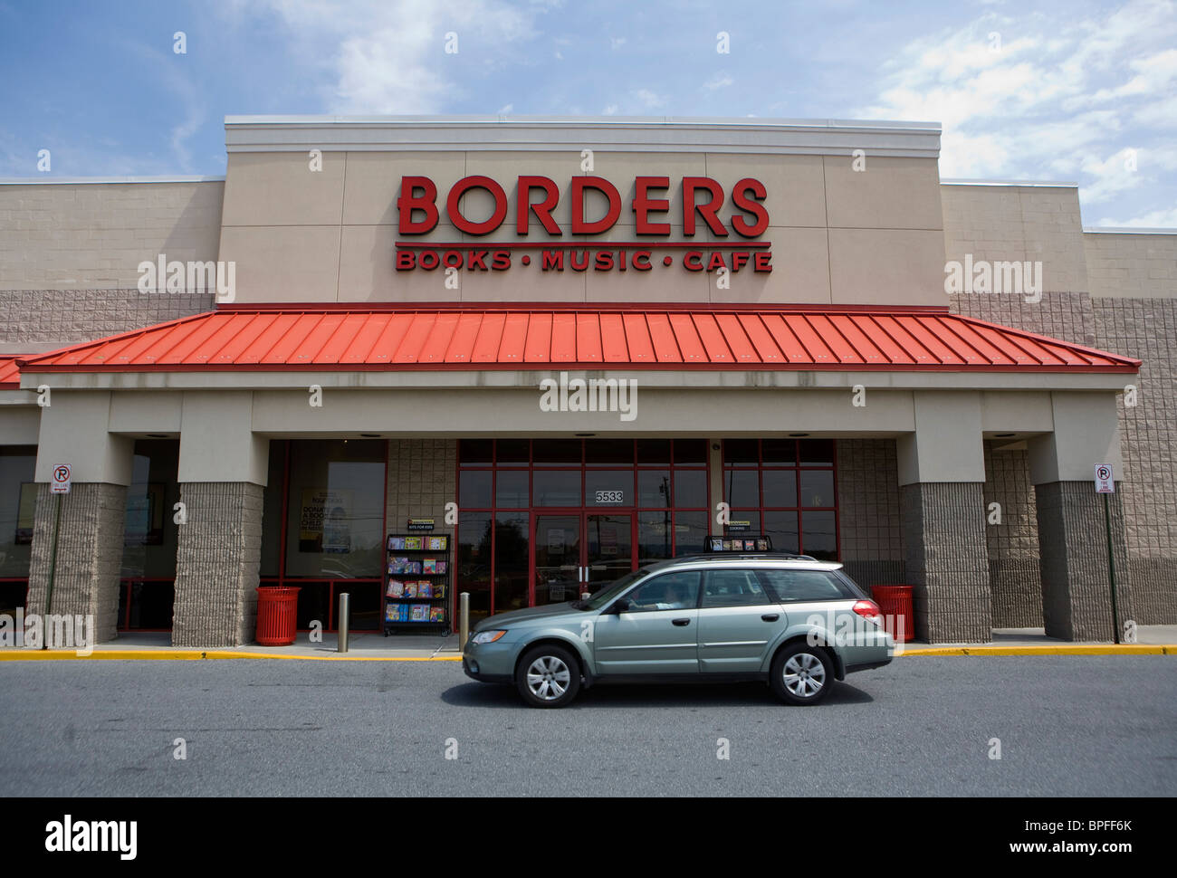
<svg viewBox="0 0 1177 878">
<path fill-rule="evenodd" d="M 1091 481 L 1050 481 L 1037 485 L 1036 492 L 1046 636 L 1111 643 L 1115 632 L 1103 498 Z M 1124 507 L 1118 492 L 1109 500 L 1116 610 L 1123 626 L 1135 618 Z"/>
</svg>

